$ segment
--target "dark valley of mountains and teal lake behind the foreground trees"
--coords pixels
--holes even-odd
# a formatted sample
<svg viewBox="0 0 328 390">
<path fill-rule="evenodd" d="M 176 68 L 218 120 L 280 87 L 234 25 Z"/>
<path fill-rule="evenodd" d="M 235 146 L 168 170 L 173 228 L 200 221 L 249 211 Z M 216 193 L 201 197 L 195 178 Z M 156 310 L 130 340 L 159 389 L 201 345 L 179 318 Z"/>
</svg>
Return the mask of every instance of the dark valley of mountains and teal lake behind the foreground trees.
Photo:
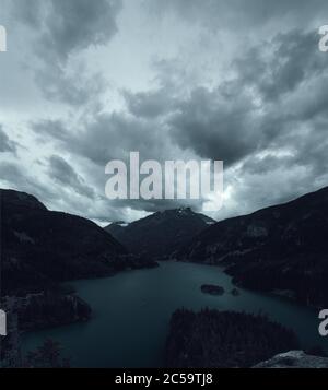
<svg viewBox="0 0 328 390">
<path fill-rule="evenodd" d="M 327 188 L 218 223 L 181 208 L 105 229 L 26 193 L 1 196 L 9 361 L 54 339 L 75 366 L 163 366 L 181 308 L 265 315 L 302 348 L 328 352 L 313 309 L 328 297 Z"/>
</svg>

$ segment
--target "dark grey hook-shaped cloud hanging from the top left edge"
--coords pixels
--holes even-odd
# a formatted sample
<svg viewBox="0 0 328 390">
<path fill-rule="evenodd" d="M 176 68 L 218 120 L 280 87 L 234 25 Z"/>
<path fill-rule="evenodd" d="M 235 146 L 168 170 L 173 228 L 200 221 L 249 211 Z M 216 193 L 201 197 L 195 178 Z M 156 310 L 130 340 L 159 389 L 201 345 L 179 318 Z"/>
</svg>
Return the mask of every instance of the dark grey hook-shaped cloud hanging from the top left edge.
<svg viewBox="0 0 328 390">
<path fill-rule="evenodd" d="M 35 81 L 50 101 L 82 106 L 104 92 L 101 74 L 68 69 L 71 56 L 105 45 L 117 32 L 121 0 L 15 0 L 14 15 L 36 34 Z M 27 5 L 28 3 L 28 5 Z"/>
</svg>

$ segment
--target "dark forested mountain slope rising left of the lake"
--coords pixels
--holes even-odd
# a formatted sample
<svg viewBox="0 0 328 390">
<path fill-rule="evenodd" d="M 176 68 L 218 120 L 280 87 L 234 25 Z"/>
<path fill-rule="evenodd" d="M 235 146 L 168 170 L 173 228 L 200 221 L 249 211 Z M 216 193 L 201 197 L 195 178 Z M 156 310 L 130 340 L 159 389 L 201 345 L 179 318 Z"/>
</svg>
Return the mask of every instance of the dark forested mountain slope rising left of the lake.
<svg viewBox="0 0 328 390">
<path fill-rule="evenodd" d="M 137 265 L 127 249 L 93 222 L 49 211 L 26 193 L 0 190 L 0 197 L 3 295 Z"/>
</svg>

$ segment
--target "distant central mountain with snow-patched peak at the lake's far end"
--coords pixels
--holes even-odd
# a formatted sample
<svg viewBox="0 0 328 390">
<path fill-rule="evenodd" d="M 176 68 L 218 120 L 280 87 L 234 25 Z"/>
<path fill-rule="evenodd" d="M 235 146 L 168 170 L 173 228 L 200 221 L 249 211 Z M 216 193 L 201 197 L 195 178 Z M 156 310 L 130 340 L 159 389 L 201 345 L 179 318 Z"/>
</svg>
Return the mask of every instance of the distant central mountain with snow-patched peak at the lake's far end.
<svg viewBox="0 0 328 390">
<path fill-rule="evenodd" d="M 174 256 L 190 237 L 213 223 L 187 208 L 157 212 L 126 227 L 112 224 L 105 229 L 132 252 L 163 259 Z"/>
</svg>

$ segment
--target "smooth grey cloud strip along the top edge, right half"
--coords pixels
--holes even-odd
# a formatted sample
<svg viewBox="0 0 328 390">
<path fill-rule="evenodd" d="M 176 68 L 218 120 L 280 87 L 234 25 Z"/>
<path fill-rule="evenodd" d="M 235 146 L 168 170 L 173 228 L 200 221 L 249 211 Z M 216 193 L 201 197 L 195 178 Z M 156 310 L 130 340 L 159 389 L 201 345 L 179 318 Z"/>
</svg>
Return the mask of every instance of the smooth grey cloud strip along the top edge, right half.
<svg viewBox="0 0 328 390">
<path fill-rule="evenodd" d="M 155 13 L 174 11 L 190 23 L 199 23 L 210 29 L 260 27 L 270 21 L 278 25 L 292 20 L 308 23 L 328 10 L 326 0 L 148 0 Z"/>
</svg>

